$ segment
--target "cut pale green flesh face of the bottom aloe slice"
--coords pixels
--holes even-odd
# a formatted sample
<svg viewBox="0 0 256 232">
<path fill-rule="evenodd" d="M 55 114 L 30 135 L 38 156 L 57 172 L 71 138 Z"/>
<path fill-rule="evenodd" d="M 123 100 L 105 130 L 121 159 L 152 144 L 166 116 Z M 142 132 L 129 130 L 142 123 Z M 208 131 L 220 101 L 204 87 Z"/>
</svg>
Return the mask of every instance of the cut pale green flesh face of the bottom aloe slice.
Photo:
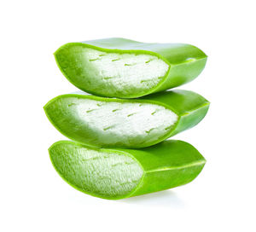
<svg viewBox="0 0 256 232">
<path fill-rule="evenodd" d="M 68 183 L 89 194 L 112 198 L 129 194 L 143 177 L 135 159 L 121 153 L 59 146 L 53 165 Z"/>
</svg>

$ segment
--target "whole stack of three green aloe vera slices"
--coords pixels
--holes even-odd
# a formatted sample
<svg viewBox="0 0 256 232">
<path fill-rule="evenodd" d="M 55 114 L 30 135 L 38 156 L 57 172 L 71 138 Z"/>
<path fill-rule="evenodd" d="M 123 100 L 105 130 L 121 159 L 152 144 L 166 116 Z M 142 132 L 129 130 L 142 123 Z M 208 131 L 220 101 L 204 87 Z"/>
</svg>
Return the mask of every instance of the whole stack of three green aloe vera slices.
<svg viewBox="0 0 256 232">
<path fill-rule="evenodd" d="M 187 142 L 165 140 L 207 114 L 204 97 L 168 90 L 201 73 L 207 61 L 201 49 L 107 38 L 65 44 L 55 60 L 72 84 L 93 94 L 57 96 L 44 106 L 49 121 L 74 141 L 49 148 L 67 183 L 86 194 L 122 199 L 199 175 L 206 159 Z"/>
</svg>

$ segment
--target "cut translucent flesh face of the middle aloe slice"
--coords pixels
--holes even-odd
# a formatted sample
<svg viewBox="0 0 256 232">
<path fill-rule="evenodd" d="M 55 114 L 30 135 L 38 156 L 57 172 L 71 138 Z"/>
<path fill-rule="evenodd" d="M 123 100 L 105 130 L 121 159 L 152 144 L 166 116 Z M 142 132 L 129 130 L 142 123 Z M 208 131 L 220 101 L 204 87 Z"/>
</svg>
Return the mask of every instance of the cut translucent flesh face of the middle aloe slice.
<svg viewBox="0 0 256 232">
<path fill-rule="evenodd" d="M 59 99 L 55 108 L 61 112 L 61 121 L 55 123 L 64 134 L 77 136 L 79 142 L 99 146 L 131 147 L 155 142 L 177 122 L 176 113 L 151 103 L 69 97 Z"/>
</svg>

